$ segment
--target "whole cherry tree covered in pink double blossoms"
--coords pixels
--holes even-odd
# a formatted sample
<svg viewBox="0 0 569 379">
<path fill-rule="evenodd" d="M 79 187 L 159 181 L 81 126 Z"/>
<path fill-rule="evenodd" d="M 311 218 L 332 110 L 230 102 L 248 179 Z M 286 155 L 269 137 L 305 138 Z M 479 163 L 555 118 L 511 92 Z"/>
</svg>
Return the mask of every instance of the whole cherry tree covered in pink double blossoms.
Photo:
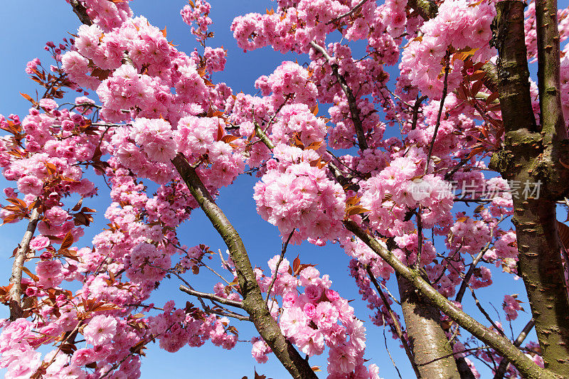
<svg viewBox="0 0 569 379">
<path fill-rule="evenodd" d="M 230 57 L 209 45 L 206 1 L 181 9 L 190 54 L 127 0 L 68 3 L 83 25 L 48 43 L 49 68 L 26 67 L 43 95 L 0 115 L 14 182 L 1 217 L 27 222 L 0 289 L 7 378 L 136 378 L 149 343 L 231 349 L 240 323 L 257 331 L 255 360 L 274 354 L 293 378 L 317 378 L 309 358 L 324 353 L 328 378 L 379 378 L 371 324 L 418 378 L 479 378 L 484 363 L 494 378 L 569 377 L 569 228 L 556 217 L 569 206 L 569 11 L 555 0 L 279 0 L 231 26 L 243 50 L 306 60 L 260 73 L 257 95 L 213 80 Z M 65 103 L 71 91 L 85 96 Z M 243 174 L 282 237 L 267 262 L 250 262 L 216 203 Z M 111 188 L 108 224 L 85 246 L 94 175 Z M 198 208 L 223 249 L 185 245 Z M 356 314 L 318 257 L 287 257 L 307 243 L 352 258 L 371 314 Z M 492 266 L 525 284 L 517 338 L 476 297 Z M 204 270 L 221 280 L 213 289 L 193 287 Z M 148 304 L 164 279 L 196 304 Z M 462 310 L 467 293 L 477 314 Z M 499 294 L 516 319 L 517 295 Z M 538 341 L 522 346 L 533 328 Z"/>
</svg>

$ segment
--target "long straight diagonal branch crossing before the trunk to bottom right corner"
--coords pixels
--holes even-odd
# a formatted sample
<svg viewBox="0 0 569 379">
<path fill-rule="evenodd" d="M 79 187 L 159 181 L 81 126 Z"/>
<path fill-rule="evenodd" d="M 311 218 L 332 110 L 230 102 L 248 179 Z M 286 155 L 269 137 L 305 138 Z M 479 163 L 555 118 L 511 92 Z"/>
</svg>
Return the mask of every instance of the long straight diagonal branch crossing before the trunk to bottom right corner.
<svg viewBox="0 0 569 379">
<path fill-rule="evenodd" d="M 419 292 L 421 297 L 430 301 L 437 309 L 440 309 L 440 311 L 456 321 L 459 326 L 469 331 L 472 336 L 494 348 L 494 350 L 504 358 L 508 358 L 523 376 L 530 379 L 555 378 L 548 370 L 544 370 L 536 365 L 536 363 L 533 363 L 531 358 L 523 354 L 508 338 L 504 338 L 500 336 L 499 333 L 486 328 L 486 326 L 480 324 L 471 316 L 464 313 L 464 311 L 458 309 L 457 306 L 452 304 L 452 302 L 443 297 L 442 294 L 427 283 L 417 271 L 404 265 L 392 252 L 385 249 L 375 238 L 371 237 L 371 235 L 366 233 L 366 231 L 360 228 L 356 223 L 351 220 L 346 220 L 344 221 L 344 225 L 346 229 L 359 237 L 371 250 L 376 252 L 388 265 L 393 267 L 398 275 L 407 279 Z"/>
</svg>

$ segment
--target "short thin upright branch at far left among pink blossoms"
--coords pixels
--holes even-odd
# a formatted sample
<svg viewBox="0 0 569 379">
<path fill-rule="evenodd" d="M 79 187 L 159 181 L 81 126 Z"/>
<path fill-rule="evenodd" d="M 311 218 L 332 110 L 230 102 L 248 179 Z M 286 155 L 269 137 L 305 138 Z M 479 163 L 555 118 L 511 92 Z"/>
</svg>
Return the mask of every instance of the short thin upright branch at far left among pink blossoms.
<svg viewBox="0 0 569 379">
<path fill-rule="evenodd" d="M 14 257 L 14 264 L 12 265 L 12 275 L 10 277 L 10 319 L 14 321 L 20 319 L 23 316 L 22 309 L 22 268 L 23 262 L 26 261 L 26 255 L 30 247 L 30 241 L 33 237 L 33 233 L 36 232 L 36 226 L 40 220 L 40 213 L 38 208 L 33 208 L 30 215 L 30 222 L 28 223 L 28 229 L 26 233 L 23 234 L 22 241 L 18 250 L 16 250 L 16 256 Z"/>
</svg>

